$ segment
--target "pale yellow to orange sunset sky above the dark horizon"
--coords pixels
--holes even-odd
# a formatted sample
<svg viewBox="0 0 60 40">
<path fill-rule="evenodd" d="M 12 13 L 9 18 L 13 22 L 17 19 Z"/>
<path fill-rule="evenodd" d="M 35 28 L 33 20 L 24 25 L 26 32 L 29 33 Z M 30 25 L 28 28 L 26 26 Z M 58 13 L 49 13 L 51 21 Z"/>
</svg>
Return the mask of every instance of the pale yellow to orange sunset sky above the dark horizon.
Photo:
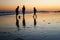
<svg viewBox="0 0 60 40">
<path fill-rule="evenodd" d="M 0 0 L 0 11 L 15 11 L 18 5 L 19 11 L 22 10 L 23 5 L 26 11 L 33 11 L 33 7 L 36 7 L 38 11 L 60 10 L 60 0 Z"/>
</svg>

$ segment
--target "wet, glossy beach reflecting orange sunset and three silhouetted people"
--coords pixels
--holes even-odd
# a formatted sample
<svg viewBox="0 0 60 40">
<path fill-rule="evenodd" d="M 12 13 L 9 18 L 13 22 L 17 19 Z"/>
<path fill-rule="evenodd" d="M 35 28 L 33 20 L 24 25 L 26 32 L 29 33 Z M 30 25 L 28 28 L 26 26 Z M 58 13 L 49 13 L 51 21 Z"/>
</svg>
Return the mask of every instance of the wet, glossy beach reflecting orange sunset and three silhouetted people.
<svg viewBox="0 0 60 40">
<path fill-rule="evenodd" d="M 0 40 L 60 40 L 60 13 L 37 13 L 37 18 L 33 13 L 18 16 L 18 24 L 16 15 L 0 16 Z"/>
</svg>

